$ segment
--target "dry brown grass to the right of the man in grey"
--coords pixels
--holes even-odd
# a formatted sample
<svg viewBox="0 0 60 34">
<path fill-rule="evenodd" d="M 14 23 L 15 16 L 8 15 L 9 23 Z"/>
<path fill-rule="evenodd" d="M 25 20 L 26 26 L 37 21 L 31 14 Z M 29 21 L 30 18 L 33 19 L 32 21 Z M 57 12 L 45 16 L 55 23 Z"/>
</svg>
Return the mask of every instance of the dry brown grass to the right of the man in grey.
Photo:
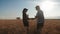
<svg viewBox="0 0 60 34">
<path fill-rule="evenodd" d="M 60 20 L 46 20 L 42 34 L 60 34 Z"/>
</svg>

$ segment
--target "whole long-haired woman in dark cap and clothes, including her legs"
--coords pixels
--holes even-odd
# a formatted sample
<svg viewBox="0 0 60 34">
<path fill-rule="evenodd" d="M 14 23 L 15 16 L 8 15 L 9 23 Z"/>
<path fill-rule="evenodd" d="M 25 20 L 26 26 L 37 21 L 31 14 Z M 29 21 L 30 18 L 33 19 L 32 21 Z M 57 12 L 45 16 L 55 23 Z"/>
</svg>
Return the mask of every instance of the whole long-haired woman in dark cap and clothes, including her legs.
<svg viewBox="0 0 60 34">
<path fill-rule="evenodd" d="M 29 33 L 28 31 L 29 31 L 29 22 L 28 22 L 28 15 L 26 14 L 26 12 L 28 11 L 28 9 L 27 8 L 24 8 L 23 9 L 23 24 L 24 24 L 24 26 L 25 26 L 25 28 L 26 28 L 26 30 L 27 30 L 27 34 Z"/>
</svg>

